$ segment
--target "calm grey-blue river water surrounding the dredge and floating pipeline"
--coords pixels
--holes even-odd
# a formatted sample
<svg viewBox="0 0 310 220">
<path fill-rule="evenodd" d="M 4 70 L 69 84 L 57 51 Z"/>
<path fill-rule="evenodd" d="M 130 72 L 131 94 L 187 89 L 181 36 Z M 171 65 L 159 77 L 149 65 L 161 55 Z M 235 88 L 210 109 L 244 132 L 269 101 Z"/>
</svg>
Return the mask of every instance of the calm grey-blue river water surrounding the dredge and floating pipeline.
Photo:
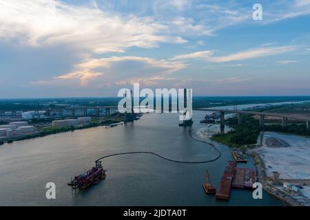
<svg viewBox="0 0 310 220">
<path fill-rule="evenodd" d="M 204 124 L 194 112 L 195 135 Z M 231 156 L 229 147 L 216 144 L 222 156 L 209 164 L 176 164 L 154 155 L 123 155 L 103 160 L 107 178 L 89 190 L 72 190 L 70 177 L 91 168 L 104 155 L 152 151 L 171 159 L 202 161 L 218 155 L 208 144 L 178 126 L 178 114 L 145 114 L 141 120 L 114 128 L 105 126 L 4 144 L 0 148 L 0 205 L 2 206 L 281 206 L 264 192 L 254 200 L 251 190 L 232 190 L 229 201 L 205 195 L 205 170 L 218 187 Z M 211 128 L 209 128 L 211 129 Z M 213 129 L 218 129 L 216 125 Z M 239 165 L 238 165 L 239 166 Z M 249 158 L 246 165 L 254 167 Z M 45 198 L 45 184 L 56 184 L 56 199 Z"/>
</svg>

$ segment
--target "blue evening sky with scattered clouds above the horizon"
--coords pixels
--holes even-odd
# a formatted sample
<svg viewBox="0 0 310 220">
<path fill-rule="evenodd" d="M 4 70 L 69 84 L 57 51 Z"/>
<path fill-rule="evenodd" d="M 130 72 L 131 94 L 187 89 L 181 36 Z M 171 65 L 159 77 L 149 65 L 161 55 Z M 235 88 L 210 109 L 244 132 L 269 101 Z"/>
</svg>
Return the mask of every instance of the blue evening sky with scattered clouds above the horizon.
<svg viewBox="0 0 310 220">
<path fill-rule="evenodd" d="M 117 96 L 133 83 L 309 96 L 310 0 L 0 0 L 0 98 Z"/>
</svg>

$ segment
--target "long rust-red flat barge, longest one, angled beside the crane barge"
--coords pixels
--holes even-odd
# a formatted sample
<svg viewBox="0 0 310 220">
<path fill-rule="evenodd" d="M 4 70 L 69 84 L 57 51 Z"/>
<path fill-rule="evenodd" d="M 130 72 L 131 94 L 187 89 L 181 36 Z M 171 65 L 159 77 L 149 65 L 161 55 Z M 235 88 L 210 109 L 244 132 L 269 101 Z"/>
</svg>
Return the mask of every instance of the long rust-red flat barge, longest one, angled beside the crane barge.
<svg viewBox="0 0 310 220">
<path fill-rule="evenodd" d="M 231 192 L 231 184 L 234 179 L 237 162 L 229 161 L 225 167 L 222 178 L 220 179 L 220 186 L 216 192 L 216 199 L 228 200 Z"/>
</svg>

